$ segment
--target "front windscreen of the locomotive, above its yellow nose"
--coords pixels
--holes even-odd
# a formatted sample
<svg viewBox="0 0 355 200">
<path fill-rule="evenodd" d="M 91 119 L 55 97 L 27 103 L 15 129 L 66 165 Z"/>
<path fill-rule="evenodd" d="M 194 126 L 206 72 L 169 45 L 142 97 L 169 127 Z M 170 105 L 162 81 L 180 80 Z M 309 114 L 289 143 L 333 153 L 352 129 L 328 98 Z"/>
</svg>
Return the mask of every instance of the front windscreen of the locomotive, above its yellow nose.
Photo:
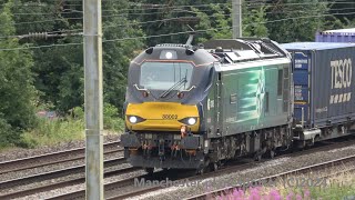
<svg viewBox="0 0 355 200">
<path fill-rule="evenodd" d="M 178 82 L 178 89 L 189 89 L 193 66 L 185 62 L 145 62 L 141 66 L 140 86 L 150 90 L 168 90 Z"/>
</svg>

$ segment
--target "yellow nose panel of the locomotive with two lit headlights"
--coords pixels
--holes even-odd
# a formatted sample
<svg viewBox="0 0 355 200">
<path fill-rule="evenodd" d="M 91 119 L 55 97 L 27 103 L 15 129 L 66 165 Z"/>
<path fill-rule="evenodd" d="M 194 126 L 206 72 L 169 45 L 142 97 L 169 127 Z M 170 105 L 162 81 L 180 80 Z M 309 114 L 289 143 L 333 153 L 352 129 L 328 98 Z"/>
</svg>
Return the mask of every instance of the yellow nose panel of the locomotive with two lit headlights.
<svg viewBox="0 0 355 200">
<path fill-rule="evenodd" d="M 125 123 L 132 130 L 180 131 L 182 126 L 189 126 L 192 132 L 196 132 L 200 116 L 196 106 L 143 102 L 128 106 Z"/>
</svg>

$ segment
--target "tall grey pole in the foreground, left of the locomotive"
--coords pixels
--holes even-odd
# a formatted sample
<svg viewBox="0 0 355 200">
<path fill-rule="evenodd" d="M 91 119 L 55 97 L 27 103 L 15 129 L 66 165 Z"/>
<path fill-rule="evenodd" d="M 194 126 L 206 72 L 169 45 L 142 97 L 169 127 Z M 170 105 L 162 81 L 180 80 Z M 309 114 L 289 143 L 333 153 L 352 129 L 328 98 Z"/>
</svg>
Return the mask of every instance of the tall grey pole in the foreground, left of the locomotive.
<svg viewBox="0 0 355 200">
<path fill-rule="evenodd" d="M 103 200 L 101 0 L 83 0 L 87 199 Z"/>
</svg>

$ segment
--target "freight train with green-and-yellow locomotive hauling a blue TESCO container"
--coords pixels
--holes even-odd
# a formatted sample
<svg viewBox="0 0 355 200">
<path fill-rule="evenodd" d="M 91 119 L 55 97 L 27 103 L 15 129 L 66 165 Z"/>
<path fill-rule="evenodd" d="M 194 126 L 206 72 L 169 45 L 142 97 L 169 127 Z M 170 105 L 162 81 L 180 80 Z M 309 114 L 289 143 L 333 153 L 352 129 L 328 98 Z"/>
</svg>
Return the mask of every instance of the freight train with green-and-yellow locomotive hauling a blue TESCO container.
<svg viewBox="0 0 355 200">
<path fill-rule="evenodd" d="M 354 58 L 355 44 L 256 38 L 151 47 L 129 67 L 124 157 L 200 173 L 349 134 Z"/>
</svg>

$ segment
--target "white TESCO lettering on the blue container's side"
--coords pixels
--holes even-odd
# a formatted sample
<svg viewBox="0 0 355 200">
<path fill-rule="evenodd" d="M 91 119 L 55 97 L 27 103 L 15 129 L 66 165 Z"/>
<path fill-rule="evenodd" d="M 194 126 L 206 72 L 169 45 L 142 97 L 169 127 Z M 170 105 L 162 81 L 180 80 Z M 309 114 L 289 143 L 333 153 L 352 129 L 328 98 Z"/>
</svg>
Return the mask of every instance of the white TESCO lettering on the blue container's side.
<svg viewBox="0 0 355 200">
<path fill-rule="evenodd" d="M 352 59 L 331 61 L 332 89 L 348 88 L 352 84 Z"/>
</svg>

